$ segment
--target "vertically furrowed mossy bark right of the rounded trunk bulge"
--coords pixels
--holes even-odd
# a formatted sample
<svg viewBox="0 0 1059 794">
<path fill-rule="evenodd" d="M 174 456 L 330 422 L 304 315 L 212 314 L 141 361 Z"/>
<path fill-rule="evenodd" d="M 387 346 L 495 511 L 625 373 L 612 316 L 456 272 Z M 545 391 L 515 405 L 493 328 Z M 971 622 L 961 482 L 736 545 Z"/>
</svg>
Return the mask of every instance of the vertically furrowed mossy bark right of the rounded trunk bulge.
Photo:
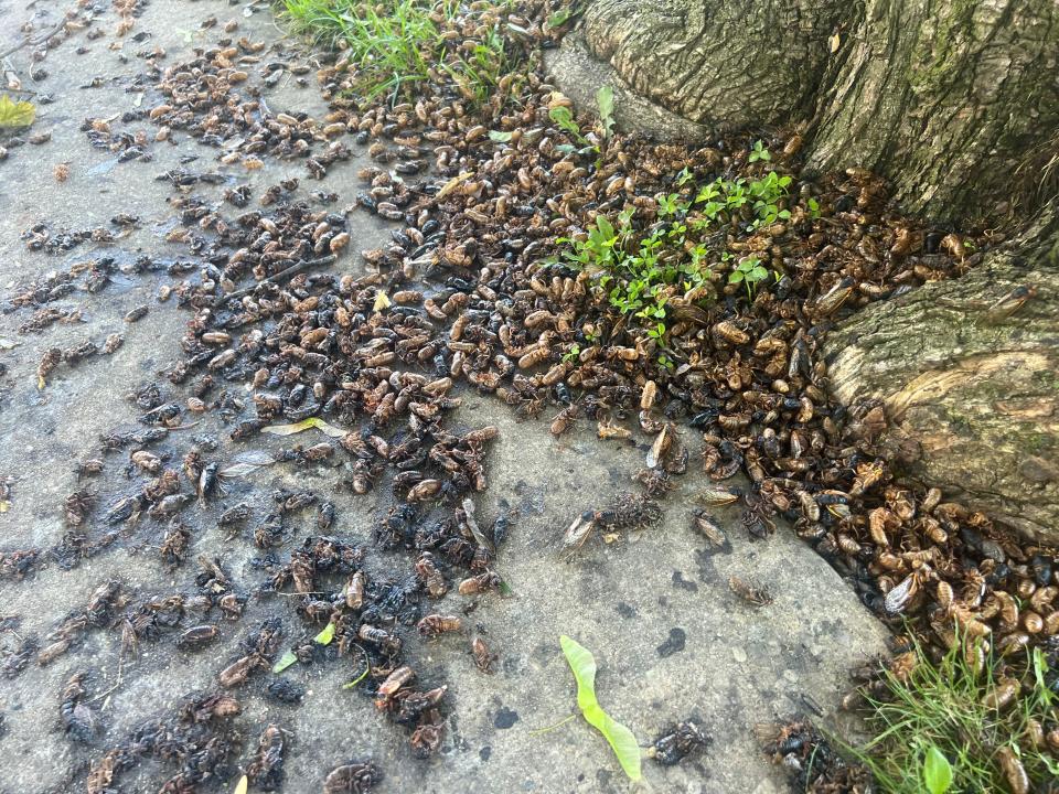
<svg viewBox="0 0 1059 794">
<path fill-rule="evenodd" d="M 1033 210 L 1059 151 L 1053 0 L 875 0 L 841 42 L 810 168 L 882 173 L 934 218 Z"/>
</svg>

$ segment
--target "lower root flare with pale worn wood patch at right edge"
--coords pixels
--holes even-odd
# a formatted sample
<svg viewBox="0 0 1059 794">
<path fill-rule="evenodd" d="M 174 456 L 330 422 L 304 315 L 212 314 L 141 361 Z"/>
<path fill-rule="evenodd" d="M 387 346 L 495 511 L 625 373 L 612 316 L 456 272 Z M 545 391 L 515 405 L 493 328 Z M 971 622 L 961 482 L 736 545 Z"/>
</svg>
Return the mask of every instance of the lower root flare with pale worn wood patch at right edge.
<svg viewBox="0 0 1059 794">
<path fill-rule="evenodd" d="M 1059 541 L 1059 210 L 962 278 L 857 313 L 825 353 L 841 400 L 881 398 L 919 443 L 911 476 Z"/>
</svg>

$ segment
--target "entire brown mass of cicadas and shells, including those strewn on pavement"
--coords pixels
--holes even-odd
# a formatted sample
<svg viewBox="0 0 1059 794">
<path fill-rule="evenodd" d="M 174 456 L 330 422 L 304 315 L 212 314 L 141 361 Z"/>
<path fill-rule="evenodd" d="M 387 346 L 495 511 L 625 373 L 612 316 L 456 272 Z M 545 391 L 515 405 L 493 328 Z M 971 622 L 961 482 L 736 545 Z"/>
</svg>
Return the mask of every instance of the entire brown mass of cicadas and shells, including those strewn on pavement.
<svg viewBox="0 0 1059 794">
<path fill-rule="evenodd" d="M 445 37 L 473 41 L 484 25 L 518 31 L 513 51 L 549 45 L 559 35 L 544 22 L 549 6 L 520 3 L 475 18 L 471 26 L 445 22 L 451 25 Z M 494 562 L 510 516 L 489 524 L 475 516 L 472 501 L 486 489 L 496 430 L 457 430 L 449 421 L 461 389 L 472 388 L 525 416 L 547 411 L 557 436 L 589 422 L 601 443 L 641 433 L 650 441 L 646 466 L 635 475 L 642 492 L 578 516 L 566 532 L 568 550 L 597 529 L 608 536 L 657 522 L 671 478 L 698 471 L 709 484 L 699 490 L 691 519 L 718 551 L 729 543 L 713 511 L 741 504 L 748 535 L 766 538 L 777 519 L 785 519 L 878 614 L 922 616 L 918 626 L 931 642 L 949 645 L 959 632 L 1014 658 L 1059 634 L 1055 552 L 1013 539 L 937 490 L 901 485 L 895 474 L 913 451 L 887 436 L 882 407 L 842 406 L 828 394 L 821 350 L 831 325 L 871 301 L 973 265 L 981 255 L 969 254 L 960 235 L 903 217 L 885 183 L 860 170 L 799 182 L 796 138 L 785 146 L 770 141 L 775 158 L 757 163 L 748 140 L 656 144 L 605 135 L 588 116 L 578 117 L 584 141 L 573 140 L 553 120 L 569 100 L 547 83 L 535 56 L 517 78 L 513 73 L 501 81 L 485 107 L 475 107 L 440 73 L 421 97 L 357 103 L 343 93 L 355 65 L 340 61 L 319 73 L 333 108 L 315 120 L 270 109 L 256 89 L 240 93 L 250 78 L 244 66 L 259 49 L 226 42 L 156 72 L 164 96 L 148 112 L 159 126 L 156 138 L 175 142 L 186 132 L 217 148 L 218 165 L 249 170 L 261 168 L 264 158 L 303 159 L 322 179 L 329 165 L 351 157 L 342 139 L 352 136 L 374 163 L 359 173 L 356 203 L 338 211 L 333 194 L 307 196 L 298 180 L 259 196 L 248 185 L 227 186 L 211 198 L 196 191 L 225 176 L 161 175 L 176 192 L 178 226 L 167 238 L 195 257 L 193 270 L 171 271 L 183 281 L 159 294 L 193 312 L 182 357 L 165 372 L 171 385 L 130 391 L 141 427 L 108 434 L 98 457 L 78 466 L 78 476 L 94 476 L 120 458 L 132 484 L 106 498 L 78 487 L 64 505 L 69 532 L 60 547 L 3 552 L 0 573 L 22 576 L 42 556 L 75 565 L 137 525 L 161 534 L 162 559 L 176 567 L 193 535 L 183 511 L 216 505 L 229 537 L 246 530 L 261 550 L 269 571 L 265 590 L 291 590 L 307 626 L 333 625 L 339 653 L 362 655 L 376 706 L 411 730 L 417 751 L 429 753 L 442 739 L 445 687 L 413 685 L 403 644 L 411 632 L 431 639 L 464 627 L 459 616 L 427 609 L 421 599 L 441 598 L 454 578 L 464 596 L 503 588 Z M 637 240 L 695 219 L 667 219 L 661 212 L 667 195 L 687 198 L 718 178 L 748 183 L 768 170 L 794 180 L 779 200 L 785 215 L 756 224 L 748 207 L 708 235 L 688 233 L 686 248 L 708 246 L 729 256 L 695 289 L 670 285 L 662 332 L 621 311 L 607 283 L 566 256 L 570 239 L 584 239 L 598 217 L 625 212 L 629 239 Z M 389 244 L 363 251 L 368 268 L 362 276 L 327 269 L 346 253 L 352 211 L 394 224 Z M 62 249 L 83 237 L 39 226 L 26 242 Z M 749 255 L 774 275 L 755 291 L 730 282 L 738 259 Z M 666 256 L 676 262 L 691 251 Z M 104 262 L 95 270 L 100 279 L 108 275 Z M 20 305 L 43 311 L 29 331 L 61 320 L 45 304 L 68 282 L 63 277 L 20 293 Z M 63 351 L 49 351 L 41 377 L 64 360 Z M 174 432 L 206 415 L 227 438 Z M 247 452 L 233 465 L 233 446 L 306 420 L 323 420 L 325 440 L 264 458 Z M 174 449 L 163 449 L 170 444 Z M 333 468 L 338 486 L 354 494 L 388 489 L 394 506 L 377 522 L 375 539 L 406 549 L 410 570 L 370 578 L 364 549 L 333 536 L 334 505 L 311 491 L 277 490 L 264 514 L 225 502 L 227 478 L 278 463 Z M 749 487 L 724 484 L 740 473 Z M 303 537 L 297 522 L 307 516 L 315 534 L 281 558 L 276 549 Z M 87 529 L 89 517 L 100 519 L 103 533 Z M 223 614 L 240 612 L 245 594 L 221 566 L 210 559 L 200 566 L 204 591 L 197 597 Z M 729 586 L 755 605 L 770 601 L 750 582 Z M 167 608 L 151 603 L 122 624 L 127 644 L 175 627 L 159 629 Z M 204 627 L 212 624 L 194 622 L 181 627 L 188 648 L 214 636 Z M 52 644 L 68 647 L 94 626 L 90 615 L 76 615 Z M 278 643 L 275 627 L 263 626 L 220 683 L 239 686 L 267 669 Z M 299 640 L 293 653 L 309 663 L 319 653 L 313 645 Z M 471 652 L 480 668 L 490 669 L 493 654 L 481 636 L 472 639 Z M 26 648 L 20 658 L 35 653 Z M 79 679 L 67 688 L 72 715 L 82 688 Z M 296 701 L 298 695 L 277 697 Z M 169 725 L 189 733 L 192 758 L 227 752 L 208 741 L 210 726 L 224 715 L 206 711 L 191 725 Z M 801 762 L 809 743 L 800 741 Z M 704 741 L 685 731 L 660 752 L 668 753 L 671 743 L 683 752 Z M 153 745 L 143 747 L 150 754 Z M 282 747 L 281 732 L 263 737 L 261 775 L 271 774 L 270 759 L 281 757 Z M 93 771 L 95 790 L 108 787 L 129 761 L 120 752 L 107 755 Z M 327 788 L 366 790 L 376 779 L 370 764 L 351 763 L 332 772 Z"/>
</svg>

